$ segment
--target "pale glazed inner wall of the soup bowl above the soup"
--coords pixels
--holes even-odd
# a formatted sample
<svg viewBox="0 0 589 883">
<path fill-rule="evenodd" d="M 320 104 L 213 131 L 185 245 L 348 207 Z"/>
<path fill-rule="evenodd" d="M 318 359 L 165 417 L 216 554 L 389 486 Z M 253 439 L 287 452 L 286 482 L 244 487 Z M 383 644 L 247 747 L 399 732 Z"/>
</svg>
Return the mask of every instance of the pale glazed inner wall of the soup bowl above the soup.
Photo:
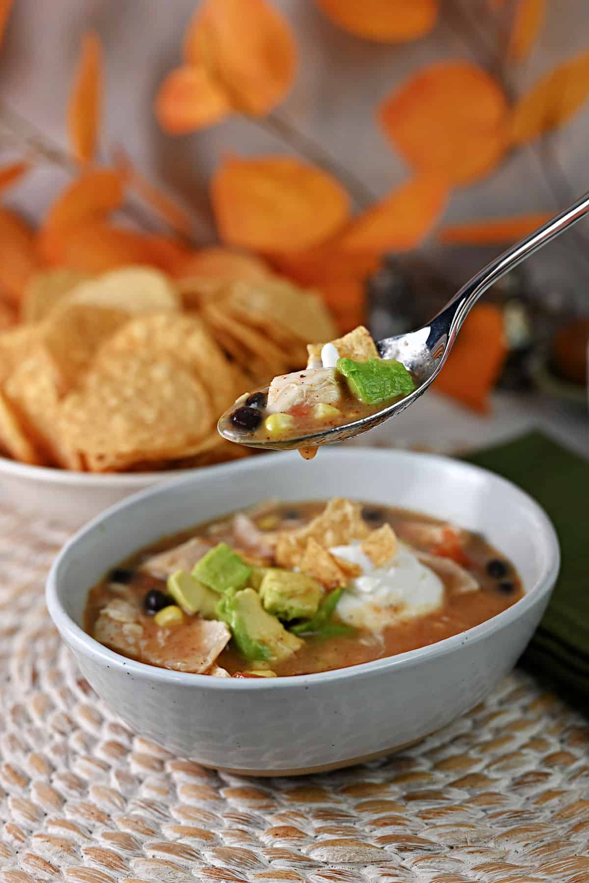
<svg viewBox="0 0 589 883">
<path fill-rule="evenodd" d="M 96 517 L 61 559 L 57 593 L 65 613 L 80 625 L 87 589 L 141 547 L 272 496 L 293 502 L 347 496 L 448 519 L 484 533 L 514 562 L 526 592 L 557 566 L 547 516 L 490 472 L 404 451 L 321 450 L 311 463 L 297 453 L 275 454 L 149 488 Z"/>
</svg>

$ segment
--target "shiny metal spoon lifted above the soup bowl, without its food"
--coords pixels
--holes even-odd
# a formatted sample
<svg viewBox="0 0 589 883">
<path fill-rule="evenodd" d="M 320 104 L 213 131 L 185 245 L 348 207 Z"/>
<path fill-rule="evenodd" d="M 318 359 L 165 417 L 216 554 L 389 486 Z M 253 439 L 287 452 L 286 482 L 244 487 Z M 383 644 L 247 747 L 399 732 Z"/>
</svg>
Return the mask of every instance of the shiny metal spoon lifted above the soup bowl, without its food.
<svg viewBox="0 0 589 883">
<path fill-rule="evenodd" d="M 385 420 L 396 417 L 410 404 L 413 404 L 419 396 L 422 396 L 430 383 L 440 374 L 464 319 L 481 294 L 501 279 L 502 275 L 517 267 L 517 264 L 522 260 L 529 258 L 543 245 L 547 245 L 572 224 L 580 221 L 587 212 L 589 212 L 589 192 L 569 208 L 565 208 L 559 215 L 555 215 L 552 220 L 539 227 L 538 230 L 521 239 L 516 245 L 512 245 L 507 251 L 487 264 L 487 267 L 480 270 L 480 273 L 472 276 L 472 279 L 463 285 L 428 325 L 424 325 L 417 331 L 410 331 L 408 334 L 385 337 L 384 340 L 376 342 L 376 347 L 382 358 L 396 358 L 412 372 L 416 379 L 417 389 L 409 396 L 405 396 L 393 404 L 385 405 L 381 411 L 353 420 L 343 426 L 329 426 L 321 432 L 282 441 L 256 439 L 254 435 L 233 426 L 230 422 L 230 415 L 235 407 L 233 406 L 225 411 L 219 420 L 217 425 L 219 433 L 230 442 L 237 442 L 249 447 L 284 450 L 344 442 L 345 439 L 365 433 L 368 429 L 379 426 Z M 261 392 L 267 390 L 268 387 Z"/>
</svg>

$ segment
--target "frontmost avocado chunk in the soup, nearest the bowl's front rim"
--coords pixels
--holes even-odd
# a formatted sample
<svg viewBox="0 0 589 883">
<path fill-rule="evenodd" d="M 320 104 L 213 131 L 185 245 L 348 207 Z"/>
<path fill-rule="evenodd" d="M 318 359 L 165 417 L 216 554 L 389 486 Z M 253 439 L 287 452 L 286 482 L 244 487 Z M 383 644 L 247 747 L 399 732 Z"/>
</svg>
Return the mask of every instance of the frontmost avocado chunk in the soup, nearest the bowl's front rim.
<svg viewBox="0 0 589 883">
<path fill-rule="evenodd" d="M 245 659 L 280 662 L 305 643 L 267 613 L 258 592 L 250 588 L 224 594 L 217 604 L 217 615 L 229 625 Z"/>
</svg>

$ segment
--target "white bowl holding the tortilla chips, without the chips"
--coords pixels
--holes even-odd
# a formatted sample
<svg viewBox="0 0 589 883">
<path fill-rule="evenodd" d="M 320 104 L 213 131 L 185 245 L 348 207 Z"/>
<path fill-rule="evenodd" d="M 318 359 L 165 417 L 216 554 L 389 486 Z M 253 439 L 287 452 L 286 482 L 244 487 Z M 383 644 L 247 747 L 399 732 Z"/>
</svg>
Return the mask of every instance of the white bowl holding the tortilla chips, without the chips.
<svg viewBox="0 0 589 883">
<path fill-rule="evenodd" d="M 43 512 L 63 525 L 79 527 L 114 503 L 144 487 L 191 475 L 183 472 L 120 472 L 98 475 L 68 472 L 46 466 L 29 466 L 0 457 L 0 491 L 15 509 Z"/>
</svg>

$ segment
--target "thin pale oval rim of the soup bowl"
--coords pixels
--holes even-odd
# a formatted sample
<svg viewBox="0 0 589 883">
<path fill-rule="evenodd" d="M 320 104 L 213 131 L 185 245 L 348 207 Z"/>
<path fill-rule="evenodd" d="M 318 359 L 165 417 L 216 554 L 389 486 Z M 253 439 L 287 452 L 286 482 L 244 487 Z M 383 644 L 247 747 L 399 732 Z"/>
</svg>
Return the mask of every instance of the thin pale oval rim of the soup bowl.
<svg viewBox="0 0 589 883">
<path fill-rule="evenodd" d="M 298 462 L 297 451 L 270 456 L 273 458 L 283 457 L 284 461 Z M 433 660 L 436 657 L 442 658 L 448 653 L 454 653 L 466 642 L 469 642 L 470 644 L 479 642 L 481 639 L 487 638 L 490 635 L 493 635 L 496 631 L 510 625 L 510 623 L 517 621 L 517 619 L 525 615 L 528 608 L 532 607 L 532 605 L 540 600 L 541 597 L 551 592 L 560 569 L 560 547 L 555 528 L 547 517 L 544 509 L 542 509 L 529 494 L 526 494 L 525 491 L 521 490 L 512 482 L 503 479 L 494 472 L 482 469 L 480 466 L 467 464 L 450 457 L 414 453 L 412 451 L 351 448 L 335 448 L 328 451 L 322 450 L 321 458 L 325 459 L 327 457 L 341 458 L 342 460 L 347 458 L 358 462 L 365 460 L 366 457 L 371 457 L 371 459 L 381 460 L 383 466 L 387 462 L 390 463 L 394 460 L 405 460 L 409 458 L 417 463 L 423 458 L 427 458 L 430 461 L 433 460 L 440 469 L 450 469 L 454 472 L 460 472 L 463 474 L 465 472 L 475 472 L 478 475 L 482 474 L 487 481 L 496 482 L 506 489 L 509 488 L 511 494 L 515 492 L 530 510 L 541 532 L 542 541 L 547 547 L 547 567 L 542 571 L 534 585 L 525 592 L 523 598 L 518 600 L 510 608 L 503 610 L 502 613 L 486 620 L 484 623 L 480 623 L 480 625 L 476 625 L 472 629 L 467 629 L 466 631 L 453 635 L 450 638 L 444 638 L 442 641 L 437 641 L 435 644 L 418 647 L 416 650 L 410 650 L 407 653 L 397 653 L 396 656 L 389 656 L 384 659 L 373 660 L 372 662 L 363 662 L 359 665 L 351 666 L 350 668 L 336 668 L 331 671 L 317 672 L 311 675 L 288 675 L 278 678 L 252 678 L 251 680 L 239 679 L 237 681 L 233 678 L 195 675 L 189 672 L 176 672 L 170 671 L 170 669 L 167 668 L 157 668 L 155 666 L 147 665 L 145 662 L 137 662 L 135 660 L 127 659 L 120 653 L 115 653 L 114 651 L 109 650 L 108 647 L 103 646 L 94 638 L 91 638 L 87 632 L 81 629 L 79 625 L 72 620 L 72 617 L 65 612 L 59 598 L 60 571 L 68 561 L 70 555 L 74 552 L 75 547 L 80 540 L 92 533 L 96 533 L 97 536 L 100 537 L 101 525 L 110 517 L 115 516 L 118 512 L 124 509 L 133 509 L 138 506 L 141 508 L 144 505 L 149 506 L 159 495 L 170 493 L 170 491 L 173 491 L 174 487 L 182 485 L 188 479 L 186 475 L 183 475 L 179 479 L 167 481 L 163 484 L 158 483 L 155 487 L 147 487 L 147 489 L 141 491 L 139 494 L 132 494 L 132 496 L 125 497 L 121 502 L 117 502 L 114 506 L 105 509 L 100 515 L 94 517 L 87 523 L 87 525 L 74 533 L 72 538 L 64 544 L 64 547 L 61 549 L 51 566 L 46 586 L 46 601 L 49 615 L 56 624 L 57 629 L 64 640 L 72 646 L 74 653 L 90 653 L 94 656 L 94 659 L 100 660 L 107 668 L 117 668 L 142 679 L 161 683 L 162 685 L 166 683 L 174 683 L 178 685 L 184 684 L 185 686 L 192 685 L 199 690 L 293 691 L 301 688 L 309 689 L 311 685 L 318 683 L 336 684 L 343 681 L 359 681 L 377 673 L 384 674 L 385 672 L 398 672 L 401 668 L 414 668 L 415 666 L 419 666 L 419 664 L 425 660 Z M 247 470 L 264 469 L 267 464 L 268 461 L 265 457 L 248 457 L 246 460 L 238 461 L 234 464 L 210 466 L 208 467 L 207 474 L 208 477 L 210 477 L 211 473 L 217 473 L 219 479 L 226 480 L 230 478 L 232 474 L 238 475 L 240 472 L 245 472 Z M 286 466 L 287 462 L 285 462 L 284 465 Z M 195 472 L 198 474 L 200 471 L 196 470 Z M 114 564 L 116 562 L 112 563 Z M 108 568 L 105 568 L 105 571 L 107 569 Z"/>
</svg>

